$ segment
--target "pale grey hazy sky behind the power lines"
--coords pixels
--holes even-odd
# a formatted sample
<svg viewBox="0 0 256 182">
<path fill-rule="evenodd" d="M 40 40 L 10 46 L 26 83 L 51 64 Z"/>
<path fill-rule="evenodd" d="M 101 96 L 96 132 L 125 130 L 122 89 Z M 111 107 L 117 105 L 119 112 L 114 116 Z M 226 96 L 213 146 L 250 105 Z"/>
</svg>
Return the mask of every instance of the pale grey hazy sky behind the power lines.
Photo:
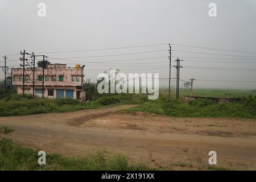
<svg viewBox="0 0 256 182">
<path fill-rule="evenodd" d="M 40 2 L 46 4 L 46 17 L 38 16 Z M 208 5 L 212 2 L 217 5 L 217 17 L 210 18 Z M 160 78 L 168 78 L 168 43 L 256 52 L 255 32 L 255 0 L 0 0 L 1 56 L 15 55 L 23 49 L 44 53 L 164 44 L 103 51 L 45 53 L 51 63 L 67 63 L 72 67 L 76 61 L 80 62 L 85 65 L 85 79 L 92 81 L 96 81 L 101 71 L 108 71 L 109 68 L 119 68 L 123 73 L 159 73 Z M 180 78 L 196 78 L 197 88 L 256 88 L 256 53 L 183 46 L 172 46 L 172 49 L 175 50 L 172 51 L 173 60 L 176 57 L 184 60 Z M 148 53 L 102 56 L 136 52 Z M 144 59 L 148 57 L 162 58 Z M 126 59 L 141 60 L 113 61 Z M 96 64 L 98 61 L 105 62 Z M 19 55 L 7 59 L 10 67 L 18 67 L 19 62 Z M 3 65 L 2 57 L 0 65 Z M 174 68 L 172 77 L 175 77 Z M 2 72 L 0 78 L 3 78 Z M 160 80 L 160 85 L 168 85 L 168 81 Z"/>
</svg>

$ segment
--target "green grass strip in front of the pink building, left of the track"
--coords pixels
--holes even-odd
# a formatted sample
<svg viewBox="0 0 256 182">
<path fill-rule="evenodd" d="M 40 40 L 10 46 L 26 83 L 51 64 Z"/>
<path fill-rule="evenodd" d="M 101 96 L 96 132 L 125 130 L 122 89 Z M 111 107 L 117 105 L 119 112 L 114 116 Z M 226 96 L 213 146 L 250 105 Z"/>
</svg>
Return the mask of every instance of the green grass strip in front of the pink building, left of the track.
<svg viewBox="0 0 256 182">
<path fill-rule="evenodd" d="M 93 102 L 73 99 L 25 98 L 18 94 L 0 95 L 0 117 L 44 113 L 63 113 L 81 109 L 98 109 L 123 104 L 142 104 L 146 96 L 137 94 L 102 94 Z"/>
</svg>

